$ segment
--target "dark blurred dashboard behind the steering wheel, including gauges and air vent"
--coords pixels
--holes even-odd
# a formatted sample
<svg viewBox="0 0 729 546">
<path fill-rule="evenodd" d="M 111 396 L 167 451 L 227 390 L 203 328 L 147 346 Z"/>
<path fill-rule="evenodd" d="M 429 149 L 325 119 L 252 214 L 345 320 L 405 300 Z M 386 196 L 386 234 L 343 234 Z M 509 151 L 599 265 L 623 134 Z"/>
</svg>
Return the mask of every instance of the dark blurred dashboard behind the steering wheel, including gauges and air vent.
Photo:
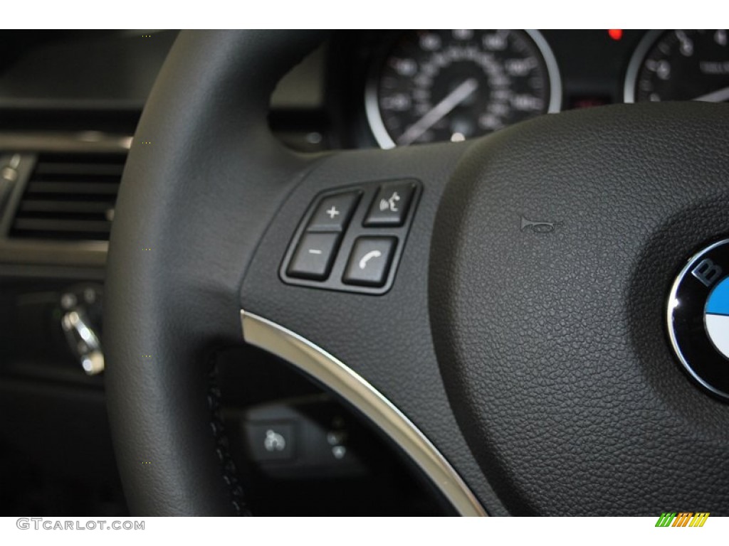
<svg viewBox="0 0 729 546">
<path fill-rule="evenodd" d="M 125 513 L 104 408 L 106 250 L 136 124 L 176 34 L 0 32 L 4 515 Z M 729 100 L 726 31 L 335 31 L 281 80 L 269 119 L 286 146 L 320 152 L 458 142 L 542 114 L 663 100 Z M 232 442 L 256 463 L 249 494 L 268 513 L 364 515 L 383 490 L 383 510 L 448 513 L 319 387 L 245 348 L 219 365 Z M 252 446 L 271 422 L 308 431 L 308 458 Z M 336 480 L 359 494 L 354 505 Z"/>
</svg>

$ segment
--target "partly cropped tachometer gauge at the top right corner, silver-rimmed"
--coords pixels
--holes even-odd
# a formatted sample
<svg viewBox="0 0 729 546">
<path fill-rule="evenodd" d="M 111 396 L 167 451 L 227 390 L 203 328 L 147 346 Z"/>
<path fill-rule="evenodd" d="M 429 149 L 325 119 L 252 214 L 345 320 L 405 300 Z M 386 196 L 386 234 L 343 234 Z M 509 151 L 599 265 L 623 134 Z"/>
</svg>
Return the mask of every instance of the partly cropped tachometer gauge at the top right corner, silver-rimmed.
<svg viewBox="0 0 729 546">
<path fill-rule="evenodd" d="M 729 31 L 652 31 L 625 76 L 625 102 L 729 100 Z"/>
</svg>

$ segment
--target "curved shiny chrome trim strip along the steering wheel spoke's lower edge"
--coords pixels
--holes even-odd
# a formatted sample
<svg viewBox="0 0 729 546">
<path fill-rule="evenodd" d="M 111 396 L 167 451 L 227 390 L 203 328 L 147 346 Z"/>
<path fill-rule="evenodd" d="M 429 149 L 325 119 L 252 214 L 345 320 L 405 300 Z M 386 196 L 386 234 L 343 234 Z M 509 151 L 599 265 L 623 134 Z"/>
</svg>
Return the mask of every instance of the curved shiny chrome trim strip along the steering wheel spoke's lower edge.
<svg viewBox="0 0 729 546">
<path fill-rule="evenodd" d="M 256 314 L 241 310 L 243 339 L 292 363 L 354 405 L 413 459 L 459 515 L 486 510 L 440 451 L 413 422 L 372 385 L 311 341 Z"/>
</svg>

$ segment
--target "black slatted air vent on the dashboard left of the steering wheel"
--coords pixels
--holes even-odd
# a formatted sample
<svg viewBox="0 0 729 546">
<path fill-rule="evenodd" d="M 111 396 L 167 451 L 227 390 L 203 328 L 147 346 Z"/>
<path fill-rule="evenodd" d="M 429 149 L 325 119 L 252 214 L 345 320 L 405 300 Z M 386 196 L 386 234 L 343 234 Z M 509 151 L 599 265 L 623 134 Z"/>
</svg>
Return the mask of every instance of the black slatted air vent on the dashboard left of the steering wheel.
<svg viewBox="0 0 729 546">
<path fill-rule="evenodd" d="M 40 154 L 10 237 L 109 240 L 125 154 Z"/>
</svg>

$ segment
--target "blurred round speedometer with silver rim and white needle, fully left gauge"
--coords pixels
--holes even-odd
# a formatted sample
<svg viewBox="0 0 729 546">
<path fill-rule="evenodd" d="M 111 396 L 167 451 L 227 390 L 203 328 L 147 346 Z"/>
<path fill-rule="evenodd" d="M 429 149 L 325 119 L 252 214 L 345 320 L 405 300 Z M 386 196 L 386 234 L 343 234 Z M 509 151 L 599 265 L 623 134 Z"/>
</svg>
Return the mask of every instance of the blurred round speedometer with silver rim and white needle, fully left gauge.
<svg viewBox="0 0 729 546">
<path fill-rule="evenodd" d="M 557 63 L 537 31 L 402 33 L 365 92 L 383 148 L 463 141 L 560 104 Z"/>
</svg>

